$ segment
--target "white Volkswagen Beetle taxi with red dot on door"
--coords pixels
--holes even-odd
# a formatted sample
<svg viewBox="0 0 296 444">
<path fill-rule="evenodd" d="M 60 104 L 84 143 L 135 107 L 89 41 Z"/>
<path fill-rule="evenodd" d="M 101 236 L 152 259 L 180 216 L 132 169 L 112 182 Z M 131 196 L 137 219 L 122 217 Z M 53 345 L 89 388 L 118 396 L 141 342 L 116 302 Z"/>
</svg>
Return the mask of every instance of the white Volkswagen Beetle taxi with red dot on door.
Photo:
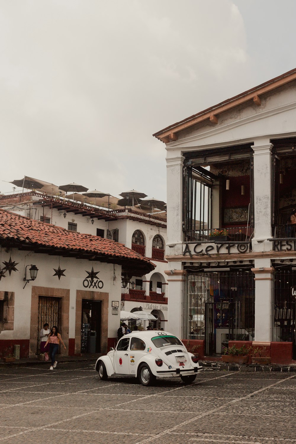
<svg viewBox="0 0 296 444">
<path fill-rule="evenodd" d="M 123 336 L 115 350 L 111 348 L 106 356 L 99 357 L 95 369 L 102 380 L 130 376 L 138 377 L 142 385 L 151 385 L 156 377 L 180 377 L 185 384 L 191 384 L 202 367 L 178 337 L 150 330 Z"/>
</svg>

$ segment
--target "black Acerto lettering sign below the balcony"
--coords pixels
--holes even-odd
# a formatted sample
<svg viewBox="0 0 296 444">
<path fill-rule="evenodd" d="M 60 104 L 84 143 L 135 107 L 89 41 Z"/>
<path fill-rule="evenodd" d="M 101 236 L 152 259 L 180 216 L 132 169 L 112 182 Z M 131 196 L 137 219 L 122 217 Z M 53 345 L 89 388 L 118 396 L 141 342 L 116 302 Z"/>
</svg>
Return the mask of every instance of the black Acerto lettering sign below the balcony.
<svg viewBox="0 0 296 444">
<path fill-rule="evenodd" d="M 202 247 L 201 247 L 202 245 Z M 192 254 L 207 254 L 210 256 L 211 254 L 230 254 L 230 253 L 247 253 L 249 251 L 249 242 L 233 244 L 231 242 L 222 243 L 222 244 L 208 244 L 204 247 L 203 242 L 197 242 L 196 244 L 185 244 L 183 250 L 183 256 L 185 254 L 189 254 L 190 258 Z"/>
</svg>

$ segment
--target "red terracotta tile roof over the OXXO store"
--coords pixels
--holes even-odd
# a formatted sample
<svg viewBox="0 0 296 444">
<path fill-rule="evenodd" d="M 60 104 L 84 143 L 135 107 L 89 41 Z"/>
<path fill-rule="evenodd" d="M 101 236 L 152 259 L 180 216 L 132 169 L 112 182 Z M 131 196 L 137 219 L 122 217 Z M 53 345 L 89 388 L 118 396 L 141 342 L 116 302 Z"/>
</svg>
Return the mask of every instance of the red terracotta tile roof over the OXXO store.
<svg viewBox="0 0 296 444">
<path fill-rule="evenodd" d="M 146 258 L 118 242 L 91 234 L 80 234 L 64 228 L 39 222 L 0 209 L 0 244 L 22 249 L 57 254 L 77 253 L 77 257 L 93 257 L 101 262 L 126 263 L 141 269 L 142 274 L 154 270 L 154 265 Z M 43 251 L 44 250 L 44 251 Z M 60 250 L 60 251 L 57 251 Z"/>
</svg>

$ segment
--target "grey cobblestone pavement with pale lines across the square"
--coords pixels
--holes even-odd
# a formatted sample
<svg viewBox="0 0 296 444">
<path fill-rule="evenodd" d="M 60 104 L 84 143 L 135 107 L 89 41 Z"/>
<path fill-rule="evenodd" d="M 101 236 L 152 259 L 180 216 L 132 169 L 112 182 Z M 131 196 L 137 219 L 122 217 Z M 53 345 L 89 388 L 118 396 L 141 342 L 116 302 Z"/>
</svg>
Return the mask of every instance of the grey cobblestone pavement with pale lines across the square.
<svg viewBox="0 0 296 444">
<path fill-rule="evenodd" d="M 100 381 L 94 363 L 0 369 L 0 442 L 295 443 L 296 374 Z"/>
</svg>

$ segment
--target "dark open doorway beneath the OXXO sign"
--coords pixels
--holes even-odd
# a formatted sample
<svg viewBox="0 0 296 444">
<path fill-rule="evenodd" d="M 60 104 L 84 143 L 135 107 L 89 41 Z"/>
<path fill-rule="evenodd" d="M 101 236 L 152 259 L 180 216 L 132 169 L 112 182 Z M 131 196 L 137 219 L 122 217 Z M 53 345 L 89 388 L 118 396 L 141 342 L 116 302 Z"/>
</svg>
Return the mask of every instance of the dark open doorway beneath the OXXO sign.
<svg viewBox="0 0 296 444">
<path fill-rule="evenodd" d="M 101 352 L 102 301 L 82 300 L 81 353 Z"/>
</svg>

